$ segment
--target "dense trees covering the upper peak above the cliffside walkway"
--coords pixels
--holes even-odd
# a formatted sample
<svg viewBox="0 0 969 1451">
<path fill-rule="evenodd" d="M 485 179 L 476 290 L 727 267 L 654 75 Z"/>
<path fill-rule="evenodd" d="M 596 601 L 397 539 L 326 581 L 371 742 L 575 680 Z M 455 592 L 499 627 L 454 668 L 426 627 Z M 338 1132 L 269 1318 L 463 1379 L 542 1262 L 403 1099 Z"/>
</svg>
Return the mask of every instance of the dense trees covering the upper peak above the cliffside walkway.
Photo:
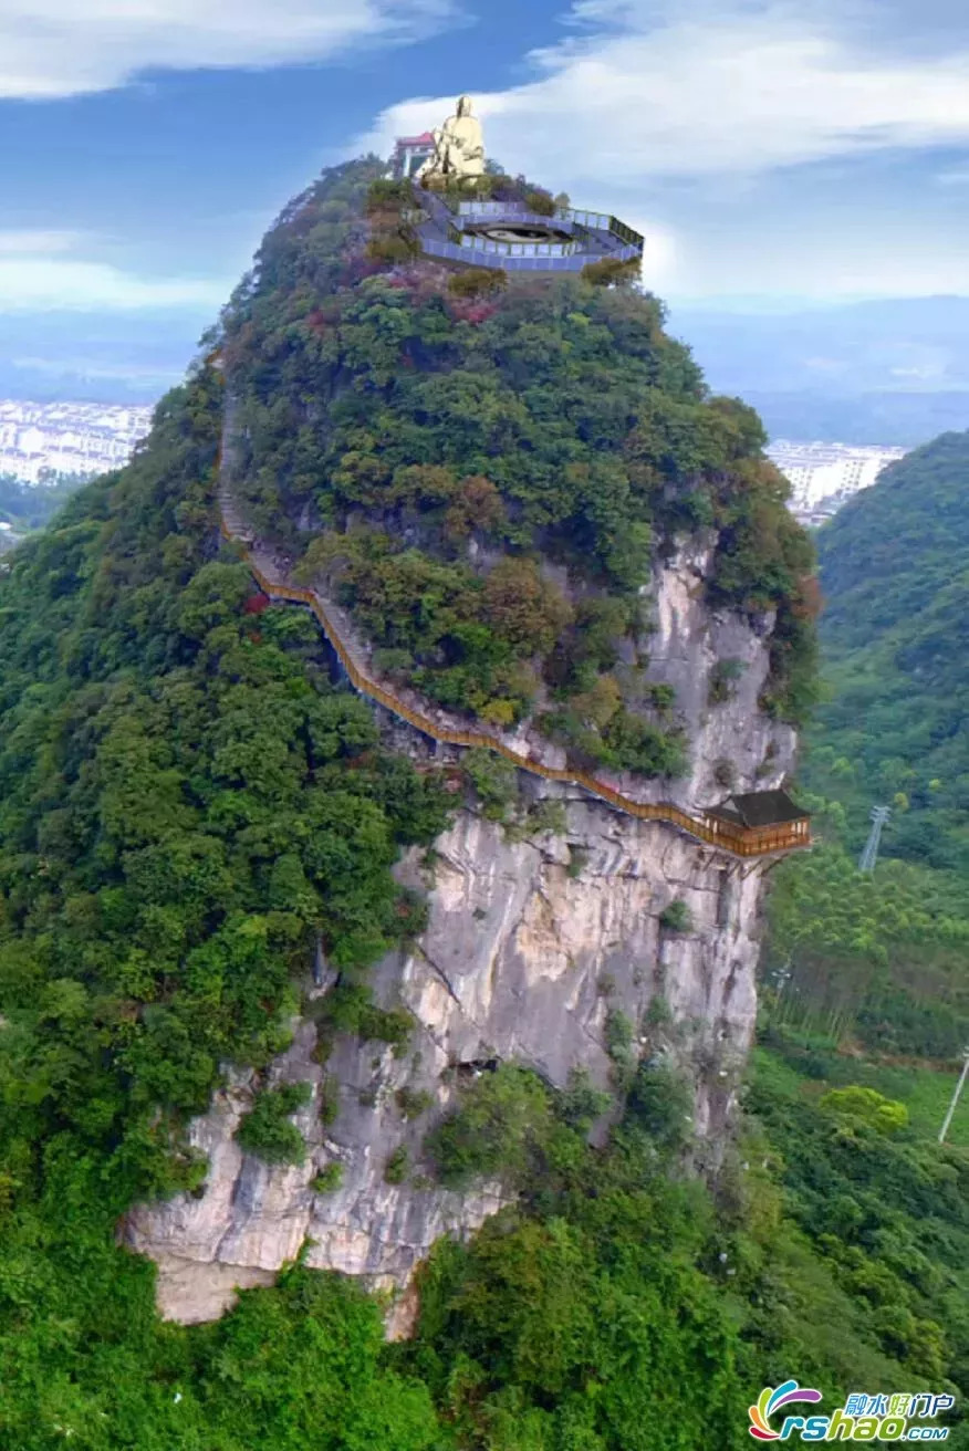
<svg viewBox="0 0 969 1451">
<path fill-rule="evenodd" d="M 709 528 L 711 599 L 778 611 L 764 705 L 798 715 L 812 557 L 756 415 L 709 396 L 656 297 L 448 273 L 419 258 L 413 206 L 377 164 L 325 173 L 223 318 L 260 531 L 306 553 L 392 676 L 498 726 L 534 717 L 585 763 L 675 775 L 640 591 Z"/>
</svg>

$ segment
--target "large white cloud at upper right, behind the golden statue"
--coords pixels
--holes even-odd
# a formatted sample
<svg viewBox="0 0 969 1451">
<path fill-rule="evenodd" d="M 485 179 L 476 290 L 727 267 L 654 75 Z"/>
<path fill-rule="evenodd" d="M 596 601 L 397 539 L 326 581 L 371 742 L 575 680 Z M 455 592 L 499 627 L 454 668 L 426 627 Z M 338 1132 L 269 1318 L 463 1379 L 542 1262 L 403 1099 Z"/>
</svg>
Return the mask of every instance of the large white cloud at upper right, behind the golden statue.
<svg viewBox="0 0 969 1451">
<path fill-rule="evenodd" d="M 566 41 L 531 54 L 535 80 L 477 97 L 489 154 L 566 189 L 969 141 L 969 26 L 962 48 L 899 58 L 809 0 L 580 0 L 572 19 Z M 387 151 L 451 103 L 393 106 L 367 139 Z"/>
</svg>

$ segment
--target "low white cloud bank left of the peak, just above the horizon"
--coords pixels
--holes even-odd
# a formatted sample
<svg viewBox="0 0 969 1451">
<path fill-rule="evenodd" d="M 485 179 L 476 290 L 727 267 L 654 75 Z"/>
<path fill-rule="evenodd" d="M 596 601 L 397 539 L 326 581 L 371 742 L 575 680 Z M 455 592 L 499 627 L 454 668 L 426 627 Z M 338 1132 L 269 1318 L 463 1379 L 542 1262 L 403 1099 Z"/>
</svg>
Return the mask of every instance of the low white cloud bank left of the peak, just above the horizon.
<svg viewBox="0 0 969 1451">
<path fill-rule="evenodd" d="M 110 263 L 71 255 L 70 232 L 0 232 L 0 312 L 216 309 L 225 279 L 139 277 Z"/>
</svg>

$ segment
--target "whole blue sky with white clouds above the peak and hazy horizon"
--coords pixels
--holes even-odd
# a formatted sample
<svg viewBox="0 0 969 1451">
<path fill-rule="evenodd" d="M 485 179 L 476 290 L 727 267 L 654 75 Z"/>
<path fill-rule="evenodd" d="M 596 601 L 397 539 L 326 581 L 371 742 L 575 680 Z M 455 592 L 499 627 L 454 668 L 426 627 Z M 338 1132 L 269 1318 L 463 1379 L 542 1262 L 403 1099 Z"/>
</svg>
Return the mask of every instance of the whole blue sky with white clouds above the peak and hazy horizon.
<svg viewBox="0 0 969 1451">
<path fill-rule="evenodd" d="M 965 0 L 0 0 L 0 318 L 194 329 L 460 90 L 673 300 L 969 293 Z"/>
</svg>

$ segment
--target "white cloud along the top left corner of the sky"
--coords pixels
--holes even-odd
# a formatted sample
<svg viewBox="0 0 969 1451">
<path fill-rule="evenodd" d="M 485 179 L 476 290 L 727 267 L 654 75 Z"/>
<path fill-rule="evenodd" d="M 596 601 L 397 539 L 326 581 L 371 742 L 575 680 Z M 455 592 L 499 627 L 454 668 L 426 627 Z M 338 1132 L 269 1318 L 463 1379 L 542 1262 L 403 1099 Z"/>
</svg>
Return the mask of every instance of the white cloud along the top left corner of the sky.
<svg viewBox="0 0 969 1451">
<path fill-rule="evenodd" d="M 450 0 L 0 0 L 0 97 L 110 90 L 149 68 L 321 61 L 448 15 Z"/>
</svg>

